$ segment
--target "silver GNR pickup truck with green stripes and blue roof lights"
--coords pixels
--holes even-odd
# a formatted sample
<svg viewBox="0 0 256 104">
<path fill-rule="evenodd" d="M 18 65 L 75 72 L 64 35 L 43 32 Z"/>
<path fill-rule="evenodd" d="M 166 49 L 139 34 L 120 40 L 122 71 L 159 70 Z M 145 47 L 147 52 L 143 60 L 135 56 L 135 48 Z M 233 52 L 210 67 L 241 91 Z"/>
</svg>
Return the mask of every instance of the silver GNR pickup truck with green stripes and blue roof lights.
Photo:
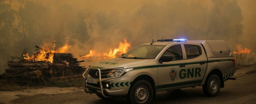
<svg viewBox="0 0 256 104">
<path fill-rule="evenodd" d="M 102 99 L 124 96 L 134 104 L 151 103 L 158 91 L 196 86 L 216 96 L 234 73 L 235 59 L 225 41 L 158 40 L 88 67 L 84 91 Z"/>
</svg>

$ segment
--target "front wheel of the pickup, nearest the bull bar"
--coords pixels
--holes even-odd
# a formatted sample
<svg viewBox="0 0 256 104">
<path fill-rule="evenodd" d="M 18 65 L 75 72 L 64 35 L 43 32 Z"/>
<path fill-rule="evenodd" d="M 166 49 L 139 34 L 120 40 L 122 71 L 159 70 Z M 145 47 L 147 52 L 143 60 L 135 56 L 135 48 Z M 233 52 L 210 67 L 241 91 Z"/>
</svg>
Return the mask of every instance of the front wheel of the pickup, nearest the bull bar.
<svg viewBox="0 0 256 104">
<path fill-rule="evenodd" d="M 127 100 L 132 104 L 150 104 L 153 99 L 153 88 L 146 80 L 139 80 L 131 86 Z"/>
</svg>

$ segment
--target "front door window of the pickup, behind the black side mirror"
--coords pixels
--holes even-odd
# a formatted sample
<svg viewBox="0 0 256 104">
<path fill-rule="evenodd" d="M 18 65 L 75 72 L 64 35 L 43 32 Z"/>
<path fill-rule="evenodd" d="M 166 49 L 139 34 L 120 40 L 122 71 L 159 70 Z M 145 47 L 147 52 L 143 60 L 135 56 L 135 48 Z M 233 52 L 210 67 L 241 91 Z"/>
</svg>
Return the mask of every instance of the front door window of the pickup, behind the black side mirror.
<svg viewBox="0 0 256 104">
<path fill-rule="evenodd" d="M 173 61 L 183 59 L 181 45 L 169 47 L 163 55 L 171 55 Z"/>
</svg>

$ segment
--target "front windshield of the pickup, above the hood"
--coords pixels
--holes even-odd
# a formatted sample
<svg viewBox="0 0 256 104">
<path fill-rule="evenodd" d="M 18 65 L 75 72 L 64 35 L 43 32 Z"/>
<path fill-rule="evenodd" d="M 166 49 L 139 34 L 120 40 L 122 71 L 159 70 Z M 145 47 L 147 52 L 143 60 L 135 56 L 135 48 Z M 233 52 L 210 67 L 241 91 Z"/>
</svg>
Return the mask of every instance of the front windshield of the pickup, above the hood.
<svg viewBox="0 0 256 104">
<path fill-rule="evenodd" d="M 165 47 L 165 45 L 140 45 L 136 46 L 126 54 L 122 56 L 122 58 L 128 59 L 154 59 L 158 53 Z"/>
</svg>

